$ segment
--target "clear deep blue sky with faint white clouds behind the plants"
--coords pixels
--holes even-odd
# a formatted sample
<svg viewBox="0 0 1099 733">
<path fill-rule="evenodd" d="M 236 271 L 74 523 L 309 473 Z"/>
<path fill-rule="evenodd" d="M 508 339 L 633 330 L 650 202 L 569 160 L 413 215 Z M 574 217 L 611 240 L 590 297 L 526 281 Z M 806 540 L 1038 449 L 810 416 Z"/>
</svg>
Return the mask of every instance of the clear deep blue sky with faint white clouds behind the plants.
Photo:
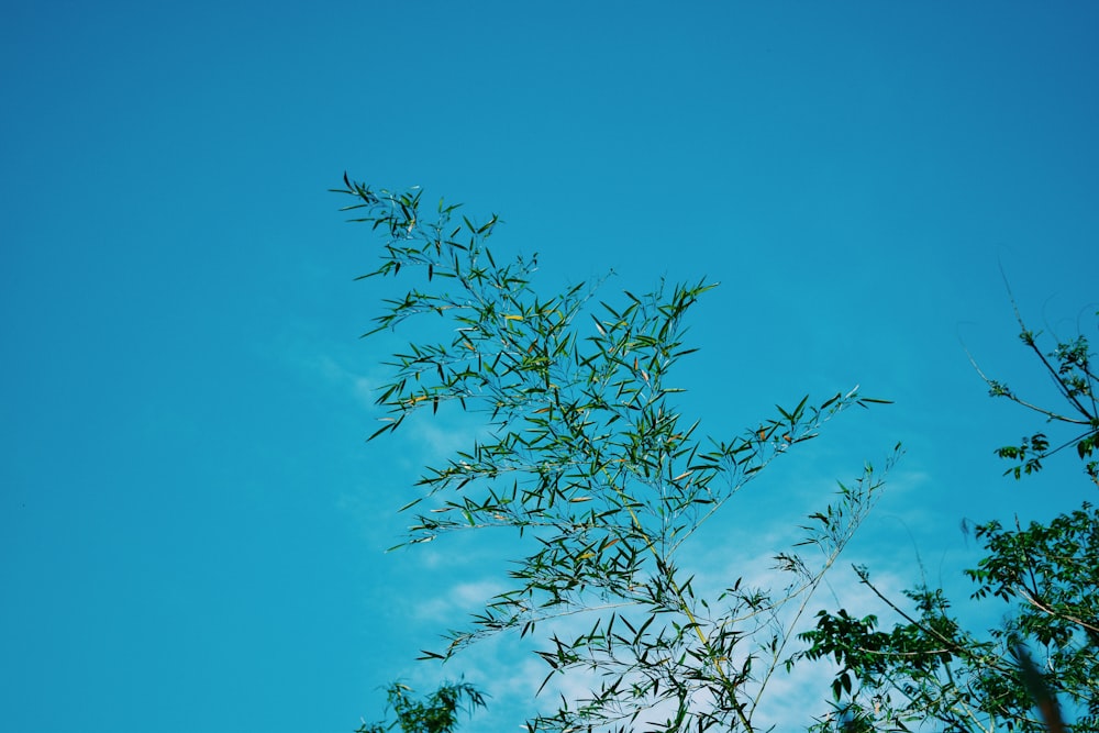
<svg viewBox="0 0 1099 733">
<path fill-rule="evenodd" d="M 500 213 L 551 290 L 720 281 L 682 371 L 711 433 L 895 400 L 758 496 L 902 441 L 855 548 L 896 587 L 917 551 L 954 582 L 963 517 L 1078 504 L 1075 466 L 999 477 L 1034 421 L 963 343 L 1041 392 L 1000 267 L 1036 329 L 1095 310 L 1097 29 L 1084 2 L 9 3 L 0 728 L 351 731 L 387 681 L 459 674 L 479 730 L 522 721 L 514 644 L 413 663 L 507 547 L 382 554 L 463 425 L 363 442 L 396 342 L 357 340 L 376 241 L 344 170 Z"/>
</svg>

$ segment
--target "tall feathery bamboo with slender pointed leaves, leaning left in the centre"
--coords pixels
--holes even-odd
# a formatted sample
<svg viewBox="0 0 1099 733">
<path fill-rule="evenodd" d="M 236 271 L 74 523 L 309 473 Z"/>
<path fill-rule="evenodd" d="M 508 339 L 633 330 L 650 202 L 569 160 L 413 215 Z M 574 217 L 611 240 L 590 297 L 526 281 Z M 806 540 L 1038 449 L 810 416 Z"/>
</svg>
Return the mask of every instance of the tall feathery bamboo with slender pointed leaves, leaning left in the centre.
<svg viewBox="0 0 1099 733">
<path fill-rule="evenodd" d="M 421 338 L 395 355 L 378 399 L 388 417 L 371 437 L 429 407 L 434 414 L 454 404 L 485 421 L 467 449 L 426 469 L 423 495 L 404 508 L 419 512 L 407 544 L 510 527 L 524 553 L 511 587 L 424 656 L 449 658 L 517 632 L 548 667 L 543 688 L 569 671 L 598 675 L 598 689 L 562 696 L 531 731 L 757 730 L 755 711 L 789 657 L 793 625 L 881 477 L 867 465 L 809 515 L 801 541 L 775 555 L 775 588 L 732 579 L 704 593 L 682 569 L 685 543 L 773 459 L 839 412 L 881 400 L 855 390 L 817 406 L 804 398 L 733 437 L 697 437 L 698 422 L 673 404 L 682 390 L 670 371 L 695 351 L 684 321 L 712 285 L 660 284 L 617 302 L 596 299 L 598 282 L 544 295 L 532 285 L 536 256 L 493 258 L 486 242 L 497 216 L 475 223 L 442 201 L 431 214 L 419 189 L 344 184 L 353 221 L 386 241 L 380 266 L 363 277 L 419 278 L 386 301 L 370 333 L 421 319 L 422 335 L 434 327 L 423 316 L 449 329 L 441 343 Z"/>
</svg>

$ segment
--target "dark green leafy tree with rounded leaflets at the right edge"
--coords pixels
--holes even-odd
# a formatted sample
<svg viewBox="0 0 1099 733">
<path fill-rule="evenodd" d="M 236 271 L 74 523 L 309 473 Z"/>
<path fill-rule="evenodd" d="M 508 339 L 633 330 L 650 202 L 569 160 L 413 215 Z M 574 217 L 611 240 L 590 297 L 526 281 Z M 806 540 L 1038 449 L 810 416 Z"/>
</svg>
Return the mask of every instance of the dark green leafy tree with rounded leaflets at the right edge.
<svg viewBox="0 0 1099 733">
<path fill-rule="evenodd" d="M 1099 410 L 1088 341 L 1079 335 L 1044 352 L 1040 334 L 1025 326 L 1018 309 L 1015 315 L 1020 338 L 1053 377 L 1065 409 L 1040 407 L 977 370 L 992 397 L 1073 432 L 1053 448 L 1045 430 L 1035 432 L 997 454 L 1015 463 L 1008 475 L 1018 479 L 1075 447 L 1095 481 Z M 802 634 L 810 643 L 804 656 L 833 657 L 840 670 L 832 682 L 836 714 L 817 730 L 843 730 L 844 717 L 880 731 L 993 731 L 1001 724 L 1017 731 L 1099 730 L 1099 510 L 1084 502 L 1047 524 L 1024 526 L 1017 519 L 1004 527 L 990 521 L 975 533 L 988 554 L 966 570 L 975 584 L 970 598 L 1009 603 L 1004 621 L 984 634 L 967 631 L 942 590 L 924 586 L 907 592 L 908 608 L 901 608 L 875 588 L 866 568 L 856 568 L 903 622 L 885 632 L 875 615 L 818 614 L 817 628 Z M 1075 725 L 1064 723 L 1061 704 L 1077 713 Z"/>
</svg>

